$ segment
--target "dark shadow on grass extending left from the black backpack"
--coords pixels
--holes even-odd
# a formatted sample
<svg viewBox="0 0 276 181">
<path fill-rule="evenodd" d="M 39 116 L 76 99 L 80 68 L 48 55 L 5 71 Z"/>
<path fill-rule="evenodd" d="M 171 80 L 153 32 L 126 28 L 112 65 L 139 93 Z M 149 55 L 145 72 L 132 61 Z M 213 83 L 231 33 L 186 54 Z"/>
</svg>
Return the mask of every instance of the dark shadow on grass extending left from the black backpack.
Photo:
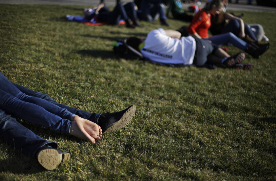
<svg viewBox="0 0 276 181">
<path fill-rule="evenodd" d="M 102 59 L 113 59 L 117 57 L 113 51 L 106 50 L 79 50 L 76 53 L 91 57 L 101 57 Z"/>
</svg>

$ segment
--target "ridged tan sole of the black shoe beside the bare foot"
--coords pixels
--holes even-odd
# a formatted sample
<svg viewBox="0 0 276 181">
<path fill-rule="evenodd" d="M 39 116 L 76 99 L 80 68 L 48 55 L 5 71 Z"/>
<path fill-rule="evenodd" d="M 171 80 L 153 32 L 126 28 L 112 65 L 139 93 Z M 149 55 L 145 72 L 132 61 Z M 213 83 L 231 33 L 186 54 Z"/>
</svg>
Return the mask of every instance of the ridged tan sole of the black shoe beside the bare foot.
<svg viewBox="0 0 276 181">
<path fill-rule="evenodd" d="M 115 131 L 117 129 L 121 129 L 124 126 L 126 126 L 127 124 L 129 124 L 130 120 L 134 116 L 135 111 L 136 111 L 136 106 L 135 105 L 129 106 L 129 108 L 124 112 L 122 117 L 118 121 L 116 121 L 113 124 L 106 127 L 106 129 L 103 130 L 103 133 L 110 133 L 110 132 Z"/>
</svg>

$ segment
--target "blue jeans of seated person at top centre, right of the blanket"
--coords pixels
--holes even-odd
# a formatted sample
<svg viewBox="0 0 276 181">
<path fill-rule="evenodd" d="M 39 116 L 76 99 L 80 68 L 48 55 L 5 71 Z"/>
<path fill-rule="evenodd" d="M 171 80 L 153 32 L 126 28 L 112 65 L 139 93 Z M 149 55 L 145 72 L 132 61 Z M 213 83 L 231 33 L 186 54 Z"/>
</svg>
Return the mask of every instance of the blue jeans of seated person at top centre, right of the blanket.
<svg viewBox="0 0 276 181">
<path fill-rule="evenodd" d="M 160 21 L 164 21 L 167 19 L 165 9 L 161 2 L 142 0 L 141 10 L 138 14 L 141 20 L 153 21 L 157 14 L 159 14 L 160 16 Z"/>
</svg>

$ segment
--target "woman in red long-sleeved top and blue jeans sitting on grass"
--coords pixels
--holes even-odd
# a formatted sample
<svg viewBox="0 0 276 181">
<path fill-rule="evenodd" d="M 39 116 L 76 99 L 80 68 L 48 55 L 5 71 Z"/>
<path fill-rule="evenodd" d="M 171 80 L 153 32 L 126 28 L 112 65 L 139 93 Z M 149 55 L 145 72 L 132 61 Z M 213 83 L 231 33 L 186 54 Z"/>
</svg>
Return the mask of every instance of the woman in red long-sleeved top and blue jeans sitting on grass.
<svg viewBox="0 0 276 181">
<path fill-rule="evenodd" d="M 252 57 L 259 58 L 260 55 L 268 50 L 269 44 L 259 46 L 256 44 L 248 44 L 231 32 L 209 37 L 208 29 L 211 26 L 210 14 L 219 14 L 223 7 L 224 4 L 221 0 L 212 0 L 210 3 L 206 3 L 206 6 L 194 15 L 191 24 L 187 28 L 188 33 L 196 38 L 210 40 L 217 45 L 231 43 L 235 47 L 247 52 Z"/>
</svg>

